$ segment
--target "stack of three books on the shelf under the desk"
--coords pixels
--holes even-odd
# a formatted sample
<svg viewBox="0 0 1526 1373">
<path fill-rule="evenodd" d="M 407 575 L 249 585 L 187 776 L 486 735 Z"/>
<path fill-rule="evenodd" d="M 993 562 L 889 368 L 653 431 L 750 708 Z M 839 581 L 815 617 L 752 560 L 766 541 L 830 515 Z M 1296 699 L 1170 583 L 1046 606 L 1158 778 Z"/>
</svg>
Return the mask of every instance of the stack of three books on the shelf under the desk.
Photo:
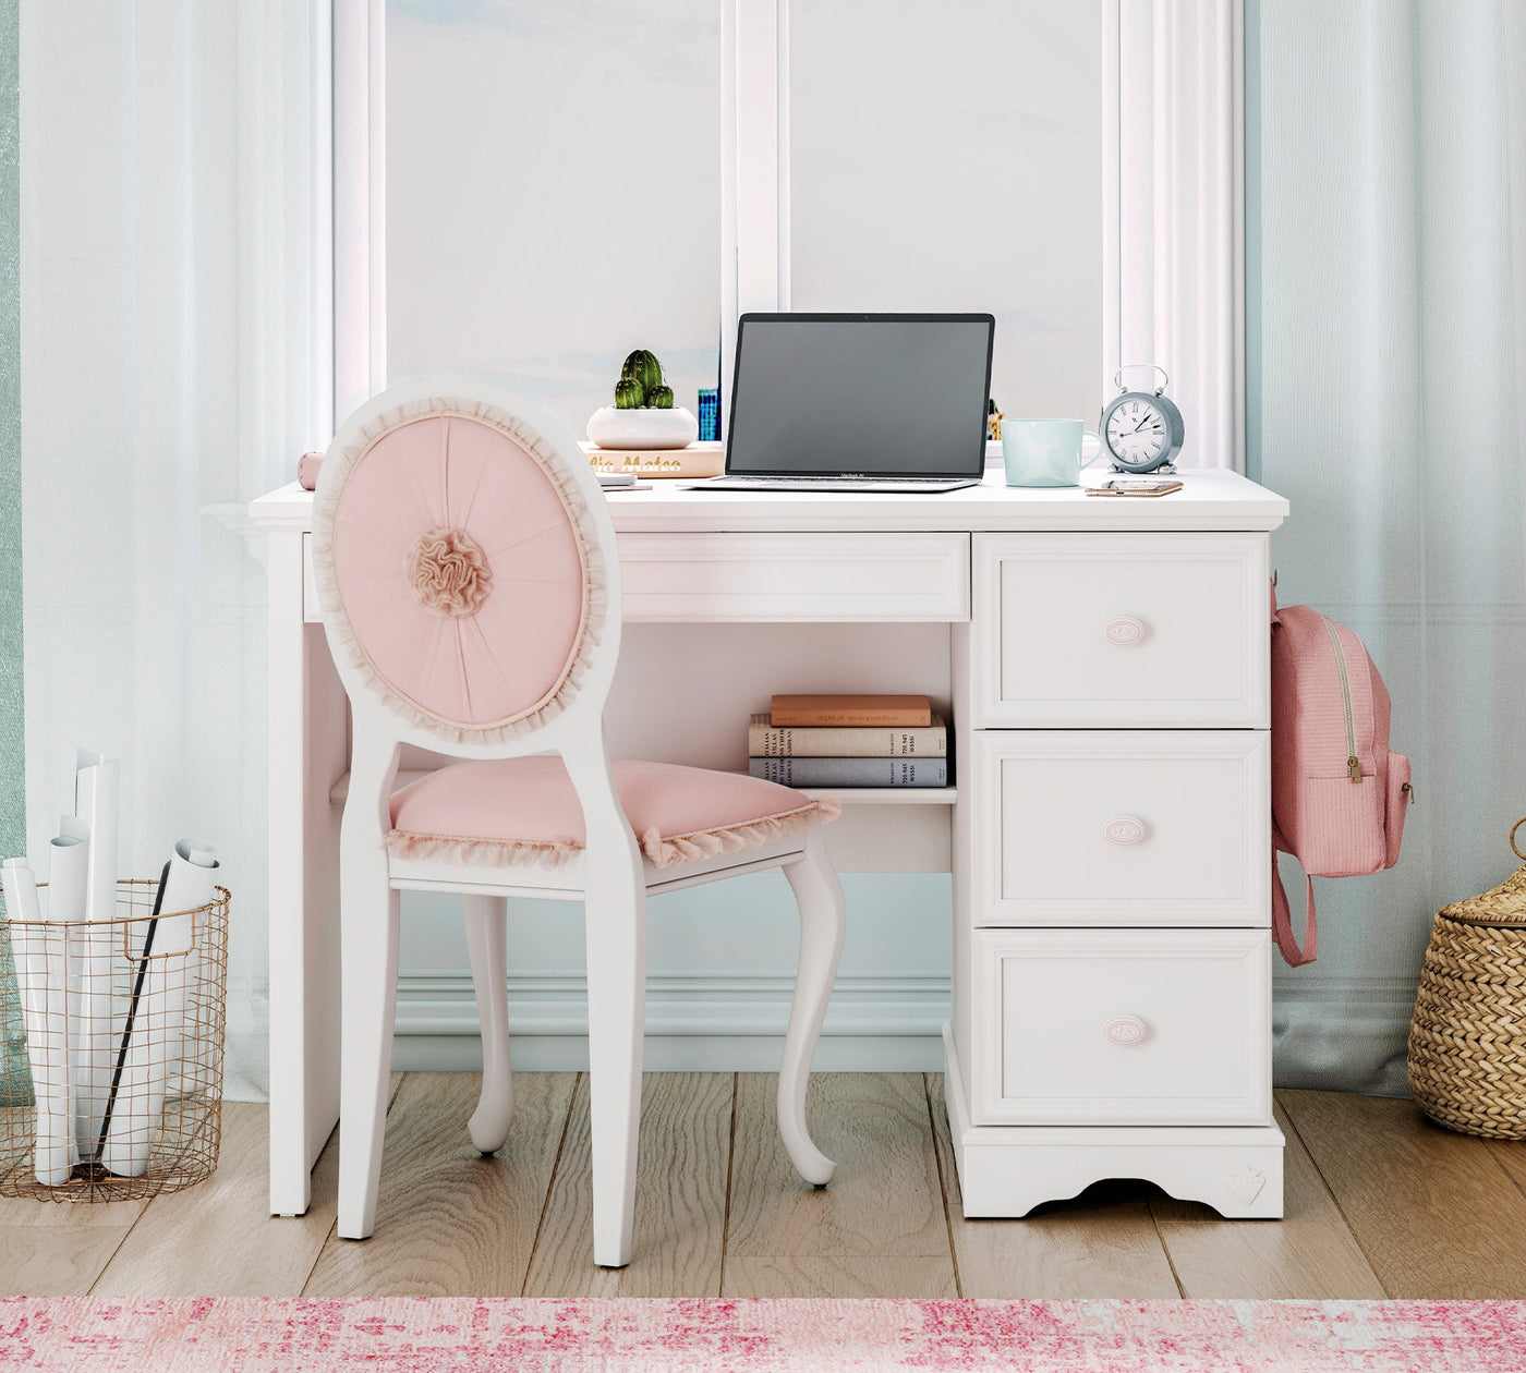
<svg viewBox="0 0 1526 1373">
<path fill-rule="evenodd" d="M 946 787 L 948 725 L 925 696 L 775 696 L 748 772 L 787 787 Z"/>
</svg>

